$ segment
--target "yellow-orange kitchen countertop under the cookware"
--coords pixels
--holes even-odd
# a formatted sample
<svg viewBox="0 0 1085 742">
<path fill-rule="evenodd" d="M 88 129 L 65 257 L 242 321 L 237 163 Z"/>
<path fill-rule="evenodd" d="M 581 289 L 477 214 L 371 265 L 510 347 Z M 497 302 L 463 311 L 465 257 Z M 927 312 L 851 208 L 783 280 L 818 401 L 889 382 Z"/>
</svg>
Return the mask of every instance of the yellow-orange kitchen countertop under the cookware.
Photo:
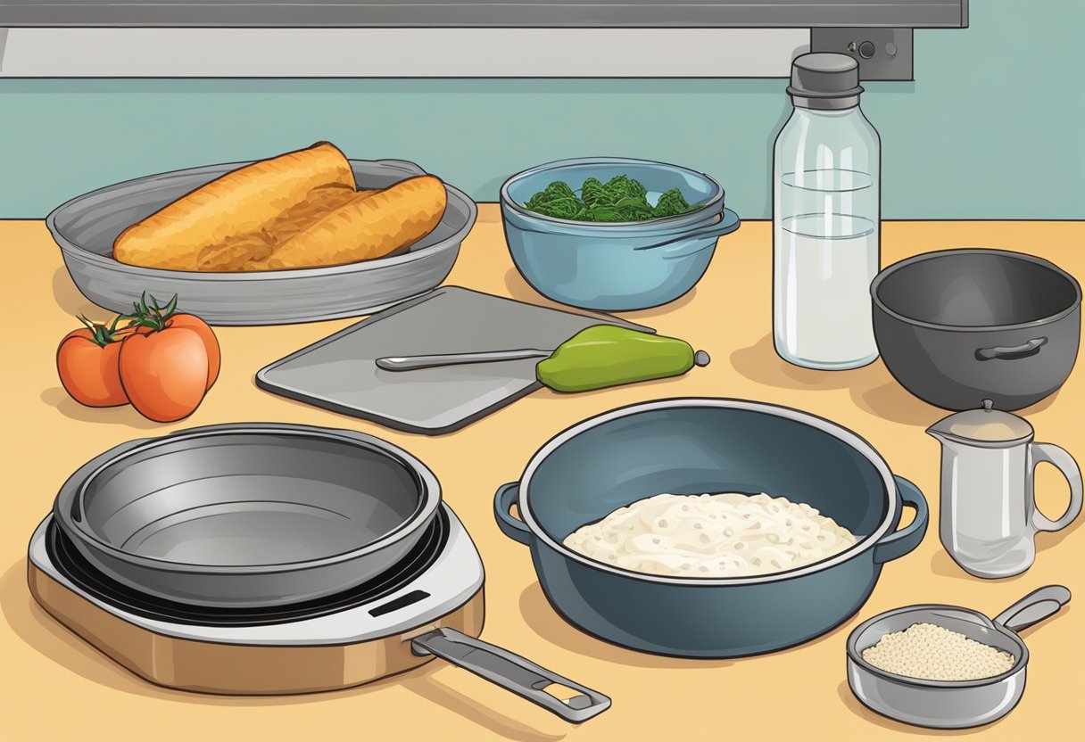
<svg viewBox="0 0 1085 742">
<path fill-rule="evenodd" d="M 886 222 L 882 263 L 956 246 L 1035 253 L 1085 280 L 1085 222 Z M 689 341 L 712 355 L 682 378 L 566 396 L 539 391 L 459 432 L 399 433 L 261 392 L 266 363 L 356 320 L 286 327 L 218 328 L 222 371 L 200 409 L 171 425 L 130 407 L 94 410 L 69 399 L 54 354 L 75 316 L 106 312 L 75 289 L 41 221 L 0 221 L 5 348 L 4 516 L 0 519 L 0 709 L 4 738 L 29 740 L 549 740 L 718 739 L 882 740 L 970 735 L 984 740 L 1062 739 L 1080 724 L 1080 666 L 1085 661 L 1082 516 L 1039 534 L 1036 563 L 1024 575 L 981 580 L 960 571 L 937 539 L 939 444 L 923 433 L 947 414 L 911 397 L 878 361 L 817 372 L 787 364 L 773 349 L 770 225 L 748 221 L 720 243 L 707 274 L 673 304 L 623 317 Z M 500 215 L 480 208 L 446 282 L 527 302 L 549 303 L 519 276 L 505 248 Z M 552 306 L 552 305 L 551 305 Z M 17 323 L 17 324 L 16 324 Z M 1024 410 L 1037 440 L 1059 444 L 1085 463 L 1085 363 L 1062 389 Z M 494 523 L 493 495 L 514 481 L 557 432 L 599 412 L 673 396 L 743 397 L 829 418 L 867 438 L 894 473 L 931 503 L 931 525 L 911 554 L 888 564 L 873 594 L 843 626 L 802 647 L 732 661 L 658 657 L 620 649 L 566 625 L 548 605 L 527 549 Z M 1075 414 L 1075 411 L 1077 414 Z M 26 545 L 56 490 L 79 465 L 136 437 L 225 422 L 277 421 L 348 426 L 398 444 L 426 462 L 486 565 L 483 638 L 613 698 L 601 716 L 567 725 L 439 661 L 360 688 L 288 698 L 205 696 L 158 688 L 129 674 L 41 611 L 26 587 Z M 1041 508 L 1062 512 L 1067 486 L 1051 468 L 1037 473 Z M 906 511 L 910 512 L 910 511 Z M 907 520 L 908 514 L 905 515 Z M 859 705 L 845 680 L 844 640 L 861 621 L 911 603 L 953 603 L 988 615 L 1052 583 L 1080 592 L 1062 613 L 1024 632 L 1032 652 L 1021 705 L 979 730 L 907 727 Z"/>
</svg>

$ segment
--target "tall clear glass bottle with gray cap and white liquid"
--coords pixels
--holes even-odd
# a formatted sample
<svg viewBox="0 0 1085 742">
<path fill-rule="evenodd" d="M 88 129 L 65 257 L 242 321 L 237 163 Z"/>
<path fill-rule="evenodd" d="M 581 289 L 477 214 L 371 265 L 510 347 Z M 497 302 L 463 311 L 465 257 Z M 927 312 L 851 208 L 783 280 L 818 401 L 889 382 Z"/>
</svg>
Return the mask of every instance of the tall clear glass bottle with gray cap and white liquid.
<svg viewBox="0 0 1085 742">
<path fill-rule="evenodd" d="M 794 111 L 773 152 L 773 338 L 784 360 L 854 369 L 878 358 L 881 142 L 859 110 L 858 63 L 794 60 Z"/>
</svg>

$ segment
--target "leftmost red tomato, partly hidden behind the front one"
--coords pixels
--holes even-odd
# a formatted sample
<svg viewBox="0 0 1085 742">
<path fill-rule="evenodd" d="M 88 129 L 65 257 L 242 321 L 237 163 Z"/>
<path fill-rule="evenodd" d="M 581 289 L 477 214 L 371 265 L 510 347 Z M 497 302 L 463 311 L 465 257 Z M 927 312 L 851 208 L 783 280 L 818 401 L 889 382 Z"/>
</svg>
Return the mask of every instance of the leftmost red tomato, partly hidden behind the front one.
<svg viewBox="0 0 1085 742">
<path fill-rule="evenodd" d="M 120 345 L 119 341 L 99 345 L 86 328 L 64 336 L 56 348 L 56 372 L 73 399 L 88 407 L 128 404 L 117 370 Z"/>
</svg>

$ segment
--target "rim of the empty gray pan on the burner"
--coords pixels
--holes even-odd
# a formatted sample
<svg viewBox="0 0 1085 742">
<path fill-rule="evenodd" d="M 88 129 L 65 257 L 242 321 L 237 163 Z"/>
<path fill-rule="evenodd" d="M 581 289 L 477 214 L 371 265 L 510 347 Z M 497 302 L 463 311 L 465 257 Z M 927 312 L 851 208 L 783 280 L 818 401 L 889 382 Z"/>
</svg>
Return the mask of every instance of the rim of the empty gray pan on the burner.
<svg viewBox="0 0 1085 742">
<path fill-rule="evenodd" d="M 382 455 L 390 456 L 395 459 L 397 463 L 401 464 L 414 475 L 418 479 L 419 485 L 422 488 L 421 497 L 419 498 L 419 504 L 414 511 L 408 515 L 399 525 L 397 525 L 392 530 L 388 530 L 383 536 L 366 543 L 358 549 L 353 549 L 350 551 L 344 551 L 339 554 L 331 554 L 329 556 L 321 556 L 320 559 L 314 560 L 303 560 L 298 562 L 281 562 L 278 564 L 242 564 L 242 565 L 220 565 L 220 564 L 192 564 L 190 562 L 175 562 L 164 559 L 154 559 L 152 556 L 143 556 L 140 554 L 133 554 L 130 551 L 125 551 L 124 549 L 118 549 L 112 543 L 107 543 L 98 537 L 97 534 L 85 527 L 82 522 L 76 524 L 79 528 L 79 533 L 86 536 L 89 540 L 94 542 L 95 548 L 100 548 L 117 558 L 124 559 L 125 561 L 133 564 L 139 564 L 145 567 L 152 567 L 156 570 L 165 570 L 170 572 L 186 572 L 186 573 L 196 573 L 196 574 L 275 574 L 279 572 L 289 572 L 297 570 L 299 566 L 302 568 L 314 568 L 320 566 L 328 566 L 330 564 L 336 564 L 340 562 L 347 562 L 358 556 L 363 556 L 367 553 L 372 553 L 374 551 L 380 551 L 386 547 L 390 542 L 394 542 L 395 536 L 413 523 L 417 523 L 420 519 L 425 517 L 429 513 L 436 512 L 437 508 L 441 507 L 441 484 L 437 481 L 436 475 L 430 470 L 429 466 L 423 464 L 420 460 L 416 459 L 413 456 L 405 451 L 404 449 L 395 446 L 393 444 L 381 440 L 365 433 L 355 433 L 354 431 L 345 431 L 350 435 L 341 435 L 334 428 L 317 428 L 304 425 L 283 425 L 282 427 L 248 427 L 239 426 L 238 428 L 231 430 L 195 430 L 191 434 L 184 432 L 169 433 L 165 436 L 158 438 L 151 438 L 145 445 L 137 446 L 136 448 L 125 451 L 120 456 L 111 457 L 108 461 L 97 466 L 92 472 L 90 472 L 81 482 L 77 483 L 75 487 L 74 497 L 79 499 L 80 510 L 86 512 L 82 508 L 82 497 L 87 489 L 87 486 L 91 481 L 98 476 L 103 470 L 108 466 L 115 465 L 117 462 L 124 461 L 125 459 L 135 456 L 137 453 L 145 452 L 149 449 L 156 448 L 158 446 L 164 446 L 167 444 L 176 443 L 177 440 L 187 440 L 204 437 L 217 437 L 221 435 L 292 435 L 295 437 L 306 437 L 306 438 L 326 438 L 334 439 L 342 443 L 347 443 L 353 446 L 369 446 L 371 449 L 379 451 Z M 360 436 L 360 438 L 354 438 L 353 436 Z M 363 439 L 362 439 L 363 438 Z M 105 453 L 108 453 L 106 451 Z M 429 492 L 433 494 L 433 497 L 427 497 Z"/>
</svg>

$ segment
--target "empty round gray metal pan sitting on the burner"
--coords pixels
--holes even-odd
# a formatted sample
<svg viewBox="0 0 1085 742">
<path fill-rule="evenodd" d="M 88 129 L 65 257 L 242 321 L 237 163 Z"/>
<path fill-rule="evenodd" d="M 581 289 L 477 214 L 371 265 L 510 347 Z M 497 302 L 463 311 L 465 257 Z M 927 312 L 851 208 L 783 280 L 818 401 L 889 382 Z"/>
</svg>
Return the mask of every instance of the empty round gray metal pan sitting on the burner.
<svg viewBox="0 0 1085 742">
<path fill-rule="evenodd" d="M 437 512 L 436 477 L 353 431 L 231 424 L 117 446 L 62 487 L 61 528 L 136 590 L 205 606 L 315 600 L 396 564 Z"/>
</svg>

